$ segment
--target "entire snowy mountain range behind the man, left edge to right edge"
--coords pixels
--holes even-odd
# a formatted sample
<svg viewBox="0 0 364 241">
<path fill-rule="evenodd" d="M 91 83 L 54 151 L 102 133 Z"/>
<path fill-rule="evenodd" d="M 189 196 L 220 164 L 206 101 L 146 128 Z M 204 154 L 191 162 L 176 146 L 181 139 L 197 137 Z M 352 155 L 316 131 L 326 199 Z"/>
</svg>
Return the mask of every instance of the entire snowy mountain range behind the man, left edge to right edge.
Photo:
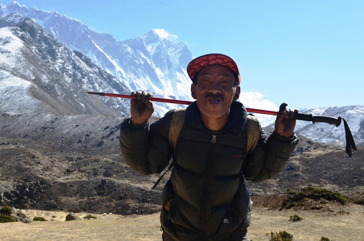
<svg viewBox="0 0 364 241">
<path fill-rule="evenodd" d="M 14 15 L 4 17 L 10 14 Z M 16 2 L 7 6 L 0 3 L 0 17 L 4 17 L 0 23 L 1 112 L 129 115 L 129 100 L 90 96 L 84 91 L 128 94 L 140 89 L 156 97 L 192 100 L 191 81 L 185 70 L 193 56 L 182 42 L 163 37 L 161 29 L 116 41 L 112 35 L 94 32 L 78 20 Z M 278 110 L 257 92 L 241 93 L 240 101 L 246 107 Z M 167 103 L 155 106 L 157 116 L 181 107 Z M 356 144 L 364 143 L 363 105 L 300 111 L 343 116 Z M 256 116 L 262 126 L 275 119 Z M 345 145 L 343 125 L 297 121 L 296 132 L 315 141 Z"/>
</svg>

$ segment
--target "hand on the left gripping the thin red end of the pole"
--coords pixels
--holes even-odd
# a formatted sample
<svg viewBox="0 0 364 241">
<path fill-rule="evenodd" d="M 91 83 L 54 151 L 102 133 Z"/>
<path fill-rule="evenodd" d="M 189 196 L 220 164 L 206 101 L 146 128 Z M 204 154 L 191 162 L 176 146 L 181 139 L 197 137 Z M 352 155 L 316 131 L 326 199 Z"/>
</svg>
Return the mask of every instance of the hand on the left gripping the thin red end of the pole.
<svg viewBox="0 0 364 241">
<path fill-rule="evenodd" d="M 131 92 L 131 96 L 135 96 L 135 99 L 130 100 L 132 125 L 144 125 L 154 112 L 153 103 L 150 101 L 153 94 L 138 90 L 137 92 Z"/>
</svg>

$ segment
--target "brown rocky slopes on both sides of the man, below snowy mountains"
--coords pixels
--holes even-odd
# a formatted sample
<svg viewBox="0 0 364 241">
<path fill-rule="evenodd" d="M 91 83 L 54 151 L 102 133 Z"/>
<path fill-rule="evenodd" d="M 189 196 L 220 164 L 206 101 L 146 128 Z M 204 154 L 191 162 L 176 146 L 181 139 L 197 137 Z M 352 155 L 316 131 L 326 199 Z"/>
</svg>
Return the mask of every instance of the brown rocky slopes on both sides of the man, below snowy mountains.
<svg viewBox="0 0 364 241">
<path fill-rule="evenodd" d="M 119 151 L 121 121 L 101 115 L 2 114 L 0 205 L 93 213 L 158 212 L 168 174 L 151 190 L 159 175 L 139 175 L 125 165 Z M 268 134 L 271 131 L 266 128 Z M 343 147 L 299 138 L 281 174 L 262 183 L 247 183 L 252 195 L 317 186 L 360 201 L 363 146 L 349 158 Z"/>
</svg>

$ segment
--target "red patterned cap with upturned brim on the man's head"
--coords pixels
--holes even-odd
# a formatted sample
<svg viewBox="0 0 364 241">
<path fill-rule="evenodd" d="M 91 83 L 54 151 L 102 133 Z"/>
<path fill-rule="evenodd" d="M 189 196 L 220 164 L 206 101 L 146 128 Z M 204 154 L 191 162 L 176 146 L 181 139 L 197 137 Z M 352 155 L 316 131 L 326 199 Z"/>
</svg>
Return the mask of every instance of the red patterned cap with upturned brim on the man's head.
<svg viewBox="0 0 364 241">
<path fill-rule="evenodd" d="M 240 73 L 238 65 L 232 58 L 223 54 L 206 54 L 195 58 L 188 64 L 187 74 L 190 76 L 190 79 L 193 80 L 199 70 L 201 70 L 203 67 L 213 64 L 225 66 L 235 72 L 239 79 L 238 85 L 240 85 Z"/>
</svg>

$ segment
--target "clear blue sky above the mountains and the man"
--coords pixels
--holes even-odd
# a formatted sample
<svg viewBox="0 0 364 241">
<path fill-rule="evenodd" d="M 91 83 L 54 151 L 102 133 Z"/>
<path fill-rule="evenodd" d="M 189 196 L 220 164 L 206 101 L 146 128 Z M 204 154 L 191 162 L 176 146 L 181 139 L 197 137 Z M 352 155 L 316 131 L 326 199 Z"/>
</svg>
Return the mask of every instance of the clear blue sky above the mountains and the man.
<svg viewBox="0 0 364 241">
<path fill-rule="evenodd" d="M 163 28 L 195 57 L 232 57 L 242 92 L 261 92 L 276 106 L 364 104 L 364 1 L 18 2 L 78 19 L 116 40 Z"/>
</svg>

